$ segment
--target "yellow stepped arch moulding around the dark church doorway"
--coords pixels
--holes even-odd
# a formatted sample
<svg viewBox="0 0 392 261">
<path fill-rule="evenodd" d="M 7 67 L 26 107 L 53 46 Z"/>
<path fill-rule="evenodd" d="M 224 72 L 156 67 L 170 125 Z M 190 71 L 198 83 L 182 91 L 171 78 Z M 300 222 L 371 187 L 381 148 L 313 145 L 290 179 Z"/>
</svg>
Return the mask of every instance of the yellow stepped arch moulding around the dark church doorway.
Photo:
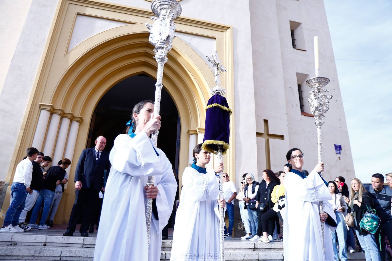
<svg viewBox="0 0 392 261">
<path fill-rule="evenodd" d="M 59 68 L 61 66 L 55 63 L 43 68 L 43 75 L 47 73 L 49 76 L 51 70 L 57 70 L 56 74 L 61 74 L 61 77 L 55 88 L 45 85 L 44 81 L 38 83 L 33 97 L 36 101 L 27 112 L 26 127 L 22 131 L 24 135 L 16 149 L 15 158 L 23 157 L 24 149 L 31 146 L 40 112 L 39 104 L 51 104 L 53 108 L 61 108 L 63 112 L 83 119 L 80 120 L 73 164 L 68 170 L 70 182 L 56 214 L 56 223 L 66 222 L 69 218 L 75 196 L 72 182 L 74 170 L 80 152 L 85 148 L 94 108 L 102 96 L 127 77 L 140 73 L 154 78 L 156 76 L 156 61 L 148 36 L 149 33 L 142 24 L 116 27 L 83 41 L 63 56 L 62 59 L 70 64 L 63 72 Z M 53 57 L 56 57 L 56 52 Z M 47 82 L 48 79 L 50 77 Z M 189 131 L 204 128 L 205 106 L 211 97 L 209 85 L 213 81 L 213 74 L 203 59 L 186 43 L 178 38 L 174 39 L 164 67 L 163 85 L 174 100 L 181 120 L 180 172 L 188 164 Z M 232 153 L 229 152 L 230 154 Z M 10 168 L 8 173 L 7 180 L 10 184 L 17 163 L 16 160 L 13 162 L 12 171 Z M 4 214 L 8 197 L 9 195 L 2 209 Z"/>
</svg>

